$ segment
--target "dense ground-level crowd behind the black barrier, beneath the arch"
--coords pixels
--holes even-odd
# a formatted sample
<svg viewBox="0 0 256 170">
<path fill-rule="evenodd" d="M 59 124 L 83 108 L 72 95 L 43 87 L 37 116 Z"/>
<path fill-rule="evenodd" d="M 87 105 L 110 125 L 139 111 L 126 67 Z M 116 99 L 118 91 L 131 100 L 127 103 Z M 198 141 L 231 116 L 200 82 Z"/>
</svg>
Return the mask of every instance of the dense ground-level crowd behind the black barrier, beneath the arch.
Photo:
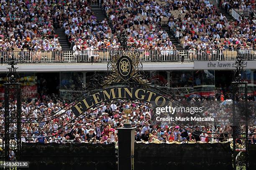
<svg viewBox="0 0 256 170">
<path fill-rule="evenodd" d="M 220 102 L 215 103 L 213 101 L 217 101 L 217 98 L 208 101 L 204 98 L 188 98 L 190 102 L 202 100 L 200 105 L 206 110 L 201 116 L 216 117 L 216 120 L 214 125 L 212 122 L 195 122 L 194 124 L 188 122 L 187 125 L 189 126 L 183 126 L 183 128 L 174 122 L 168 124 L 156 121 L 154 111 L 147 106 L 148 103 L 143 101 L 133 101 L 131 103 L 119 100 L 118 104 L 102 102 L 97 107 L 91 108 L 76 117 L 70 110 L 72 103 L 68 104 L 61 100 L 54 102 L 51 99 L 29 99 L 22 103 L 22 141 L 32 143 L 118 143 L 117 128 L 123 127 L 127 119 L 123 111 L 126 108 L 131 108 L 132 113 L 128 115 L 128 119 L 136 126 L 134 135 L 137 142 L 225 142 L 232 138 L 232 126 L 227 118 L 231 109 L 228 109 L 228 100 L 223 101 L 224 97 L 218 98 Z M 182 98 L 179 100 L 182 101 Z M 229 110 L 226 116 L 221 112 L 220 105 L 226 105 L 222 111 Z M 1 133 L 3 133 L 4 113 L 2 103 L 0 103 L 0 107 Z M 250 102 L 248 108 L 253 114 L 254 107 L 253 102 Z M 16 109 L 16 103 L 13 102 L 10 105 L 10 111 Z M 220 118 L 220 116 L 223 118 Z M 249 126 L 249 138 L 251 143 L 256 143 L 256 126 L 253 123 Z M 10 131 L 13 130 L 15 130 L 15 124 L 10 127 Z"/>
</svg>

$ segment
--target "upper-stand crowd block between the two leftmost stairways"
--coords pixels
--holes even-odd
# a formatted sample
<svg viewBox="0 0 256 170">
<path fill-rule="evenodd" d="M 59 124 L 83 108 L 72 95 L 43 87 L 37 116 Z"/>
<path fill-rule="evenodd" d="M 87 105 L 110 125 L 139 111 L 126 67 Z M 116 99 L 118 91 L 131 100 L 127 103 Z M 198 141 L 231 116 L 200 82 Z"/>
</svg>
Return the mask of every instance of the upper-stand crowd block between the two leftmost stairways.
<svg viewBox="0 0 256 170">
<path fill-rule="evenodd" d="M 79 3 L 76 8 L 69 6 L 68 10 L 63 28 L 71 50 L 106 50 L 113 46 L 109 43 L 112 34 L 108 20 L 98 21 L 90 5 Z"/>
</svg>

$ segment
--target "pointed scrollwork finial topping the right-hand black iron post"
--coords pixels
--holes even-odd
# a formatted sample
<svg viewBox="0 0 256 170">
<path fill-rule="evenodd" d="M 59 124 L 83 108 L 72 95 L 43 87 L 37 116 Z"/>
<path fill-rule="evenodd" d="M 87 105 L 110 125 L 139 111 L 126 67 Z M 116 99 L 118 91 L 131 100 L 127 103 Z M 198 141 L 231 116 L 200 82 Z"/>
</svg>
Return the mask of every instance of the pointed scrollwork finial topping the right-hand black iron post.
<svg viewBox="0 0 256 170">
<path fill-rule="evenodd" d="M 246 81 L 246 73 L 243 70 L 243 67 L 246 67 L 243 57 L 239 53 L 238 56 L 236 56 L 236 62 L 235 66 L 236 70 L 233 74 L 233 81 L 235 82 L 245 82 Z"/>
</svg>

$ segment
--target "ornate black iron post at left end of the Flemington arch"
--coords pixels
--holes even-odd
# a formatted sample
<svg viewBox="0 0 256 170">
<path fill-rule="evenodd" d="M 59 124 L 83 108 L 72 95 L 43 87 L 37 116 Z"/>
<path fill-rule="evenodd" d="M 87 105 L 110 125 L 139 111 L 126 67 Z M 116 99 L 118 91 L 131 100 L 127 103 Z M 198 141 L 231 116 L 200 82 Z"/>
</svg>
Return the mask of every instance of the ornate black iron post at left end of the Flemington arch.
<svg viewBox="0 0 256 170">
<path fill-rule="evenodd" d="M 9 72 L 6 76 L 5 86 L 5 136 L 4 136 L 4 160 L 20 160 L 21 154 L 21 102 L 20 83 L 16 58 L 11 55 L 7 67 Z M 12 103 L 16 100 L 16 104 Z M 16 106 L 15 106 L 16 105 Z M 16 125 L 16 127 L 15 127 Z M 14 155 L 13 155 L 14 153 Z M 10 155 L 13 156 L 10 159 Z M 17 168 L 19 170 L 20 168 Z"/>
</svg>

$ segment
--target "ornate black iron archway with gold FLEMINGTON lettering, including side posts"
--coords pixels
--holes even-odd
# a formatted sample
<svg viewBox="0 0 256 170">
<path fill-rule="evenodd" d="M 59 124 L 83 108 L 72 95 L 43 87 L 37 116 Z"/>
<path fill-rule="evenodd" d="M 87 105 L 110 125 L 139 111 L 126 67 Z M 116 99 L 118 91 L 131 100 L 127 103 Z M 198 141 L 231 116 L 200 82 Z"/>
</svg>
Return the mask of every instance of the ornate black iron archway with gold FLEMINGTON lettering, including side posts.
<svg viewBox="0 0 256 170">
<path fill-rule="evenodd" d="M 126 35 L 122 34 L 120 37 L 120 47 L 117 47 L 110 51 L 111 61 L 108 63 L 108 72 L 105 75 L 99 75 L 95 73 L 94 78 L 87 84 L 84 84 L 83 80 L 80 79 L 80 87 L 76 89 L 70 89 L 67 87 L 67 95 L 69 96 L 69 104 L 62 107 L 60 110 L 53 111 L 49 115 L 39 115 L 38 117 L 22 117 L 21 108 L 20 108 L 20 86 L 18 84 L 18 74 L 16 72 L 15 58 L 12 56 L 11 58 L 11 69 L 8 74 L 8 82 L 6 84 L 5 91 L 5 134 L 3 140 L 4 144 L 4 152 L 3 158 L 4 160 L 10 160 L 9 158 L 9 150 L 15 151 L 15 160 L 20 160 L 20 150 L 21 150 L 21 137 L 23 138 L 41 138 L 38 135 L 44 135 L 44 138 L 50 138 L 54 135 L 61 134 L 66 130 L 71 129 L 74 125 L 77 125 L 80 120 L 83 120 L 84 117 L 91 115 L 94 110 L 99 109 L 99 103 L 105 102 L 104 105 L 109 105 L 111 103 L 139 103 L 141 105 L 146 105 L 147 107 L 152 108 L 152 120 L 154 123 L 161 123 L 154 120 L 156 114 L 154 114 L 156 107 L 168 106 L 168 105 L 179 105 L 179 106 L 196 106 L 201 103 L 197 103 L 195 101 L 186 101 L 183 99 L 184 95 L 182 94 L 182 90 L 175 90 L 168 83 L 164 84 L 159 82 L 158 80 L 151 79 L 150 76 L 147 76 L 145 72 L 142 70 L 142 64 L 139 58 L 139 51 L 135 48 L 127 46 L 127 38 Z M 242 67 L 241 61 L 238 58 L 238 71 Z M 241 70 L 240 70 L 241 71 Z M 12 73 L 13 72 L 13 73 Z M 236 73 L 238 77 L 242 77 L 242 74 Z M 235 76 L 237 77 L 237 76 Z M 190 125 L 189 122 L 174 120 L 169 121 L 169 124 L 174 123 L 175 125 L 179 125 L 184 130 L 187 130 L 195 135 L 200 137 L 202 133 L 208 135 L 207 138 L 215 139 L 216 136 L 223 134 L 225 138 L 233 139 L 233 157 L 234 157 L 234 169 L 236 167 L 247 167 L 247 145 L 248 145 L 248 114 L 247 114 L 247 84 L 243 82 L 241 78 L 235 79 L 238 82 L 233 83 L 233 94 L 231 95 L 231 99 L 233 102 L 233 113 L 228 114 L 230 117 L 227 119 L 227 112 L 223 111 L 223 114 L 220 113 L 219 117 L 217 117 L 221 121 L 212 122 L 206 121 L 205 124 L 202 124 L 199 121 L 195 121 L 201 127 L 203 125 L 210 125 L 212 130 L 210 132 L 205 132 L 199 127 L 195 127 Z M 168 81 L 169 82 L 169 81 Z M 14 85 L 15 84 L 15 85 Z M 238 87 L 239 85 L 239 87 Z M 241 86 L 240 86 L 241 85 Z M 242 88 L 243 90 L 241 90 Z M 126 90 L 125 90 L 126 88 Z M 12 92 L 15 89 L 15 92 Z M 155 95 L 153 95 L 153 93 Z M 151 98 L 149 99 L 151 95 Z M 120 97 L 117 97 L 120 96 Z M 142 98 L 144 96 L 144 98 Z M 180 97 L 177 97 L 180 96 Z M 242 97 L 243 96 L 243 97 Z M 12 100 L 9 100 L 10 97 Z M 59 98 L 58 95 L 53 95 L 53 99 L 57 102 L 63 101 L 63 99 Z M 156 101 L 156 97 L 158 97 Z M 93 103 L 89 103 L 90 101 L 94 101 Z M 104 98 L 104 100 L 103 100 Z M 140 103 L 138 101 L 145 100 L 146 103 Z M 152 99 L 152 100 L 151 100 Z M 241 100 L 242 99 L 242 100 Z M 13 100 L 17 100 L 15 108 L 14 105 L 10 104 Z M 101 101 L 102 100 L 102 101 Z M 81 101 L 84 101 L 81 103 Z M 165 103 L 163 104 L 163 102 Z M 241 105 L 244 105 L 243 116 L 241 116 Z M 80 104 L 79 104 L 80 102 Z M 240 104 L 238 104 L 240 103 Z M 15 103 L 14 103 L 15 104 Z M 163 105 L 162 105 L 163 104 Z M 88 105 L 88 107 L 87 107 Z M 85 107 L 86 106 L 86 107 Z M 91 110 L 91 108 L 93 108 Z M 70 116 L 70 111 L 75 113 L 75 116 Z M 25 111 L 26 112 L 26 111 Z M 240 112 L 240 113 L 238 113 Z M 206 117 L 205 113 L 197 114 L 198 116 Z M 242 120 L 238 120 L 237 115 Z M 162 113 L 162 116 L 168 116 L 168 113 Z M 183 112 L 176 112 L 175 116 L 186 116 Z M 127 116 L 128 117 L 128 116 Z M 216 117 L 215 117 L 216 118 Z M 225 121 L 222 121 L 225 119 Z M 32 121 L 33 120 L 33 121 Z M 54 120 L 63 121 L 65 124 L 60 125 L 48 130 L 44 130 L 41 132 L 41 128 L 44 128 L 46 123 L 49 123 L 53 126 L 56 125 Z M 123 120 L 125 122 L 125 120 Z M 224 122 L 225 124 L 233 123 L 229 127 L 232 130 L 227 130 L 225 133 L 218 132 L 218 128 L 215 126 Z M 21 124 L 34 126 L 37 129 L 37 133 L 34 131 L 26 131 L 25 128 L 21 127 Z M 36 125 L 35 125 L 36 124 Z M 161 125 L 161 124 L 160 124 Z M 54 133 L 54 135 L 53 135 Z M 3 134 L 2 134 L 3 135 Z M 223 138 L 224 138 L 223 137 Z M 222 138 L 222 137 L 220 137 Z M 240 143 L 238 141 L 241 141 Z M 239 144 L 239 145 L 238 145 Z M 244 146 L 244 147 L 242 147 Z M 245 152 L 243 152 L 245 151 Z M 245 154 L 239 154 L 238 152 L 243 152 Z M 239 154 L 239 155 L 238 155 Z M 244 155 L 244 157 L 242 157 Z M 236 166 L 238 165 L 238 166 Z"/>
</svg>

